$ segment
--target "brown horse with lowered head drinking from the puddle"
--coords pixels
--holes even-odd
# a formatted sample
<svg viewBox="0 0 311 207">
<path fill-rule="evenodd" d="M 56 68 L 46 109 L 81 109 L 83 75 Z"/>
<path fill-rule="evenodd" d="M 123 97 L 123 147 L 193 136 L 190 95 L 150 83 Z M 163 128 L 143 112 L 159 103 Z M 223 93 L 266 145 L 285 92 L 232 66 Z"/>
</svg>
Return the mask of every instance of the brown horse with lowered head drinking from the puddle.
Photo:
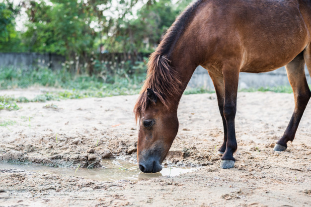
<svg viewBox="0 0 311 207">
<path fill-rule="evenodd" d="M 222 168 L 234 166 L 239 72 L 286 66 L 295 110 L 274 148 L 285 150 L 311 97 L 305 62 L 311 73 L 311 0 L 197 0 L 177 17 L 150 57 L 134 109 L 139 168 L 153 173 L 162 169 L 178 131 L 179 100 L 199 65 L 213 80 L 223 119 Z"/>
</svg>

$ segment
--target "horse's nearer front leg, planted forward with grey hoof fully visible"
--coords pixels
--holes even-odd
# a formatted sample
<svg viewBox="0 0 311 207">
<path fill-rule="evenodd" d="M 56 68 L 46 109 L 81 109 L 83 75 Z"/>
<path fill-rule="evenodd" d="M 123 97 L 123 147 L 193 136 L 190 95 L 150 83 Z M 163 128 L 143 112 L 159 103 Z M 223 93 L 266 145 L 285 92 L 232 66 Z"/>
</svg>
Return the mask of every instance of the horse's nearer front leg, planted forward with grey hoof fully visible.
<svg viewBox="0 0 311 207">
<path fill-rule="evenodd" d="M 224 100 L 224 117 L 227 122 L 227 143 L 226 150 L 222 156 L 221 168 L 233 168 L 235 159 L 233 153 L 236 151 L 237 144 L 235 138 L 234 119 L 236 113 L 236 96 L 239 71 L 233 67 L 223 69 L 225 100 Z"/>
</svg>

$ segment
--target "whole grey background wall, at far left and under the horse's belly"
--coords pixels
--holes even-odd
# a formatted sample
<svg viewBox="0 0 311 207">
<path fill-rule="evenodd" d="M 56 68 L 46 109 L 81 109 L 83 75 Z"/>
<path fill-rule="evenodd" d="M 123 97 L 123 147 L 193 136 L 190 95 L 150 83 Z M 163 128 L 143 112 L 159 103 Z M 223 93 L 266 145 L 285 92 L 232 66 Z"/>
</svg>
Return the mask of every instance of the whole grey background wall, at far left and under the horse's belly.
<svg viewBox="0 0 311 207">
<path fill-rule="evenodd" d="M 44 66 L 51 69 L 61 69 L 61 64 L 65 62 L 65 57 L 54 54 L 39 54 L 39 53 L 0 53 L 0 67 L 38 67 Z M 309 84 L 311 78 L 306 68 L 306 77 Z M 245 73 L 239 75 L 239 85 L 241 88 L 259 88 L 259 87 L 274 87 L 278 85 L 289 85 L 286 70 L 284 67 L 265 73 Z M 206 69 L 199 66 L 193 73 L 193 76 L 188 84 L 188 87 L 202 87 L 213 90 L 213 82 Z"/>
</svg>

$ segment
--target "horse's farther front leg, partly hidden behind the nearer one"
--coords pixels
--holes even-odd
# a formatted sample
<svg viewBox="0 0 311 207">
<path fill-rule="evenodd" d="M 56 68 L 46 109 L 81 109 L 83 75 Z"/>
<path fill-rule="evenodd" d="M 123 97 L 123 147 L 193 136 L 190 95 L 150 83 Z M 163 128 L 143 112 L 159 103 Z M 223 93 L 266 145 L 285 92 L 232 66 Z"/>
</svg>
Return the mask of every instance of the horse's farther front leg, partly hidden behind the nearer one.
<svg viewBox="0 0 311 207">
<path fill-rule="evenodd" d="M 222 116 L 223 126 L 224 126 L 224 142 L 218 149 L 218 153 L 224 154 L 224 152 L 226 151 L 226 144 L 227 144 L 227 122 L 224 116 L 224 101 L 225 101 L 224 76 L 222 74 L 211 73 L 210 71 L 209 71 L 209 75 L 215 87 L 219 112 L 220 112 L 220 115 Z"/>
</svg>

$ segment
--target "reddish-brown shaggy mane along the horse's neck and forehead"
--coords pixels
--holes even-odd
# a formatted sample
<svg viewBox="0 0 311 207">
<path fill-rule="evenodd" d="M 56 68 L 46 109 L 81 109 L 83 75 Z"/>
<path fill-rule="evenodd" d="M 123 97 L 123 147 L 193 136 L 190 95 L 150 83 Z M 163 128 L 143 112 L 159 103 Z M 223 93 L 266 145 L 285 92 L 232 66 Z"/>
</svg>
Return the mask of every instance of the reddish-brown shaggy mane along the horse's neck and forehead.
<svg viewBox="0 0 311 207">
<path fill-rule="evenodd" d="M 167 30 L 166 34 L 157 46 L 156 51 L 151 54 L 147 65 L 147 78 L 144 82 L 140 96 L 134 107 L 135 121 L 141 118 L 150 104 L 147 96 L 147 88 L 154 90 L 158 101 L 168 109 L 169 100 L 167 96 L 182 93 L 181 80 L 174 68 L 170 66 L 169 55 L 182 35 L 185 27 L 191 21 L 199 4 L 204 0 L 197 0 L 189 5 Z"/>
</svg>

